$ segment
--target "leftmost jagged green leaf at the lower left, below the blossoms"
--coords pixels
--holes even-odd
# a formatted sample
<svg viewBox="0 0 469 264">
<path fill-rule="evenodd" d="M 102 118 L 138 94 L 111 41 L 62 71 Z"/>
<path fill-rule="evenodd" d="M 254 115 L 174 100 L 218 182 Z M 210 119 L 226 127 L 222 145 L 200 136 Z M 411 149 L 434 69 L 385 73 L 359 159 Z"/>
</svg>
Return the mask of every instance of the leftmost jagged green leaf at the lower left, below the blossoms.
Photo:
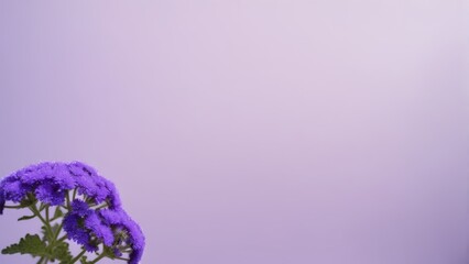
<svg viewBox="0 0 469 264">
<path fill-rule="evenodd" d="M 11 244 L 4 248 L 1 251 L 2 254 L 31 254 L 33 256 L 36 255 L 45 255 L 46 254 L 46 244 L 44 241 L 40 239 L 37 234 L 31 235 L 26 234 L 26 237 L 22 238 L 18 244 Z"/>
</svg>

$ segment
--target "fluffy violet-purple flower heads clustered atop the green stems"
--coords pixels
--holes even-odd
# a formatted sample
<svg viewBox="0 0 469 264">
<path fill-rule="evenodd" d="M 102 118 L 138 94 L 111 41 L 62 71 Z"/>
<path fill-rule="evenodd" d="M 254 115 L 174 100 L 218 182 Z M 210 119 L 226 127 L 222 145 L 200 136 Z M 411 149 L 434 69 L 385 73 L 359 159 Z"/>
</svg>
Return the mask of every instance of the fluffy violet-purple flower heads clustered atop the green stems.
<svg viewBox="0 0 469 264">
<path fill-rule="evenodd" d="M 142 257 L 145 239 L 137 224 L 122 209 L 114 185 L 90 166 L 79 163 L 41 163 L 22 168 L 0 182 L 0 215 L 6 201 L 20 202 L 33 194 L 50 206 L 64 206 L 69 190 L 79 198 L 70 204 L 63 220 L 68 239 L 87 251 L 98 245 L 110 248 L 117 256 L 130 248 L 130 264 Z M 81 199 L 80 199 L 81 198 Z M 106 208 L 99 206 L 106 202 Z"/>
</svg>

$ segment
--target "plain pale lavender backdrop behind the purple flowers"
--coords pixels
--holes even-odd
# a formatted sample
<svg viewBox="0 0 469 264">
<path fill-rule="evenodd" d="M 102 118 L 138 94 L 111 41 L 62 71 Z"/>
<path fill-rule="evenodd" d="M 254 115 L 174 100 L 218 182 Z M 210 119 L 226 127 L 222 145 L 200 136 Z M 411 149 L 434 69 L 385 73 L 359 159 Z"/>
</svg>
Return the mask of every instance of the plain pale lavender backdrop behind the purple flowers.
<svg viewBox="0 0 469 264">
<path fill-rule="evenodd" d="M 97 167 L 148 264 L 469 263 L 468 18 L 460 0 L 1 1 L 0 175 Z M 0 246 L 35 230 L 18 216 Z"/>
</svg>

